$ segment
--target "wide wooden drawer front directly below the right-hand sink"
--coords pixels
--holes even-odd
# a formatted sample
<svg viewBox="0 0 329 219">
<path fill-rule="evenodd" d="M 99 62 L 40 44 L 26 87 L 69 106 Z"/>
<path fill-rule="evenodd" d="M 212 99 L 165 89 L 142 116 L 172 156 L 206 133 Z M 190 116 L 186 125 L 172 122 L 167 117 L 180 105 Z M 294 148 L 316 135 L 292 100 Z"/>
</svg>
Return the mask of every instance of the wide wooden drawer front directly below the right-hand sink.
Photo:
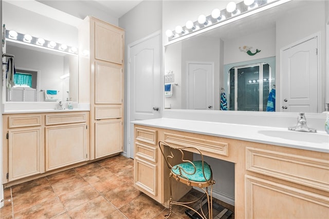
<svg viewBox="0 0 329 219">
<path fill-rule="evenodd" d="M 329 191 L 329 161 L 259 148 L 246 148 L 246 170 Z"/>
</svg>

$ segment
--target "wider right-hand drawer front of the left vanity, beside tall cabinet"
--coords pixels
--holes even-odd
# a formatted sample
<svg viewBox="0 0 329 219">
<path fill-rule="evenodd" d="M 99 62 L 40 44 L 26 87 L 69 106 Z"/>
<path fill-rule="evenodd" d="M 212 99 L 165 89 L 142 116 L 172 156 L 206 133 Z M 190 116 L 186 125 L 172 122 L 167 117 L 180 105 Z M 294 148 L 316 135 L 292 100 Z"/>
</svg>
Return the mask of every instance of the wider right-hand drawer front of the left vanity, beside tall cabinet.
<svg viewBox="0 0 329 219">
<path fill-rule="evenodd" d="M 46 125 L 84 123 L 86 121 L 87 121 L 86 113 L 49 114 L 49 115 L 46 115 Z"/>
</svg>

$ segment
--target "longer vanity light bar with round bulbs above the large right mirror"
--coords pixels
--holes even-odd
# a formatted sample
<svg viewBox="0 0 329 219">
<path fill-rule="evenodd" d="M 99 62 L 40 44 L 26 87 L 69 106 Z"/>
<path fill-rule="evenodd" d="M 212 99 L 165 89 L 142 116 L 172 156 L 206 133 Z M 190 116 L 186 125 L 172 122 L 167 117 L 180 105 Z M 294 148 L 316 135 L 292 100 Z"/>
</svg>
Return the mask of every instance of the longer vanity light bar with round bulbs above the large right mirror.
<svg viewBox="0 0 329 219">
<path fill-rule="evenodd" d="M 204 15 L 200 15 L 202 17 L 201 21 L 191 22 L 188 21 L 186 26 L 182 27 L 182 31 L 177 33 L 176 31 L 167 30 L 166 35 L 168 40 L 171 43 L 175 43 L 181 39 L 187 38 L 187 35 L 196 35 L 199 33 L 203 33 L 207 30 L 214 29 L 216 27 L 234 22 L 243 17 L 249 16 L 251 14 L 255 14 L 266 9 L 281 5 L 286 2 L 290 2 L 291 0 L 254 0 L 253 3 L 249 3 L 252 1 L 242 1 L 240 3 L 234 4 L 234 10 L 231 9 L 231 5 L 228 9 L 214 9 L 212 14 L 204 17 Z M 230 3 L 229 3 L 230 4 Z M 233 5 L 233 4 L 232 4 Z M 204 21 L 204 18 L 206 20 Z"/>
</svg>

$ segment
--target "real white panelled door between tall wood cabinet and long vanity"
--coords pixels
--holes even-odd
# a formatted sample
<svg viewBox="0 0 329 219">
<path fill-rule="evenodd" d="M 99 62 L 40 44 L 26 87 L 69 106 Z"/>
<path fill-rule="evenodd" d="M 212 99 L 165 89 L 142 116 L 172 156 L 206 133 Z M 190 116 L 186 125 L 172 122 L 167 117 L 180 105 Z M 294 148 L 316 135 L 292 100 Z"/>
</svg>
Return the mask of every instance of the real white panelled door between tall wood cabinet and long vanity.
<svg viewBox="0 0 329 219">
<path fill-rule="evenodd" d="M 129 131 L 127 156 L 134 158 L 134 125 L 130 122 L 161 117 L 160 31 L 128 45 Z"/>
</svg>

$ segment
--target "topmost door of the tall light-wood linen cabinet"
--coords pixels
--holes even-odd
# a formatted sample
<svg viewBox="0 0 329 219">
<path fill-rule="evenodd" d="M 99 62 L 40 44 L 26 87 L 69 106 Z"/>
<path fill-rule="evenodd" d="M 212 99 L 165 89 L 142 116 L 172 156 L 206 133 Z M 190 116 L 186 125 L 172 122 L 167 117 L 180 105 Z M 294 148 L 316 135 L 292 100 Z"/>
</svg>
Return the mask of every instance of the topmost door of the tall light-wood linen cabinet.
<svg viewBox="0 0 329 219">
<path fill-rule="evenodd" d="M 95 23 L 95 58 L 120 65 L 123 63 L 123 31 L 121 29 Z"/>
</svg>

